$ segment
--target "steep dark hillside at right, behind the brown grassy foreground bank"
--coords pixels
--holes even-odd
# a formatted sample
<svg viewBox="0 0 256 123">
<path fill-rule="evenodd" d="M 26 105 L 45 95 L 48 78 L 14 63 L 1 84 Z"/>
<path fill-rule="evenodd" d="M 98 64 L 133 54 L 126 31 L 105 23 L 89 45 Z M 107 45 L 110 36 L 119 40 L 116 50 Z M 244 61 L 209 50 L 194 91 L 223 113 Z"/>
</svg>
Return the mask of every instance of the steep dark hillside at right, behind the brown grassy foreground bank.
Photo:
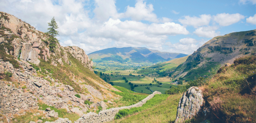
<svg viewBox="0 0 256 123">
<path fill-rule="evenodd" d="M 190 55 L 176 68 L 172 76 L 187 80 L 194 80 L 200 76 L 207 77 L 221 66 L 232 64 L 236 58 L 255 52 L 255 36 L 255 30 L 217 36 Z"/>
</svg>

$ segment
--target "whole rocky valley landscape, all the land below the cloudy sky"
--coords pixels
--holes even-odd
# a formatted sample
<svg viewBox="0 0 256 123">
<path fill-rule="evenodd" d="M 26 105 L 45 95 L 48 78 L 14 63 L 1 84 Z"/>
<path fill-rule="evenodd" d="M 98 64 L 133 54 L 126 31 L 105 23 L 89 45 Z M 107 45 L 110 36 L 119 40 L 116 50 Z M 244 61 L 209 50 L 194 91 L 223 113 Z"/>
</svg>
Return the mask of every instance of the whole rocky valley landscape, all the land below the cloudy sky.
<svg viewBox="0 0 256 123">
<path fill-rule="evenodd" d="M 256 122 L 256 29 L 214 37 L 190 55 L 146 47 L 87 55 L 61 45 L 54 17 L 48 24 L 41 32 L 0 12 L 0 123 Z"/>
</svg>

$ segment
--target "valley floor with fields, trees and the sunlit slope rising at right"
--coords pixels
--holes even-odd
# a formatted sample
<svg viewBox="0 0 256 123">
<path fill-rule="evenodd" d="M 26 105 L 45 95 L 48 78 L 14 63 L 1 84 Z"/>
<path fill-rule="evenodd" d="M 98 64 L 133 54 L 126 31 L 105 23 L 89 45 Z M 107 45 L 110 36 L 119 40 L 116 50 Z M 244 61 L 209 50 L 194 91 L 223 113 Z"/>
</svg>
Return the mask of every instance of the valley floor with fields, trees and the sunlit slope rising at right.
<svg viewBox="0 0 256 123">
<path fill-rule="evenodd" d="M 185 80 L 182 80 L 183 84 L 172 84 L 176 81 L 174 81 L 175 79 L 169 77 L 169 75 L 167 74 L 167 72 L 173 72 L 179 64 L 186 61 L 187 57 L 188 56 L 177 58 L 165 63 L 155 64 L 153 66 L 151 66 L 150 64 L 150 66 L 147 66 L 148 64 L 143 64 L 145 66 L 121 66 L 120 68 L 119 63 L 112 63 L 112 65 L 115 67 L 112 67 L 111 69 L 106 69 L 103 67 L 101 69 L 96 69 L 99 66 L 95 66 L 94 70 L 100 78 L 108 83 L 111 82 L 112 85 L 125 87 L 126 89 L 133 90 L 138 93 L 152 94 L 154 91 L 159 91 L 164 94 L 164 92 L 169 90 L 171 86 L 185 86 L 187 84 Z M 150 71 L 148 71 L 149 69 Z M 123 79 L 123 77 L 125 77 L 128 81 L 125 82 L 125 79 Z M 154 80 L 156 80 L 157 82 Z M 134 89 L 132 89 L 129 82 L 134 85 Z M 149 85 L 150 83 L 152 85 Z"/>
</svg>

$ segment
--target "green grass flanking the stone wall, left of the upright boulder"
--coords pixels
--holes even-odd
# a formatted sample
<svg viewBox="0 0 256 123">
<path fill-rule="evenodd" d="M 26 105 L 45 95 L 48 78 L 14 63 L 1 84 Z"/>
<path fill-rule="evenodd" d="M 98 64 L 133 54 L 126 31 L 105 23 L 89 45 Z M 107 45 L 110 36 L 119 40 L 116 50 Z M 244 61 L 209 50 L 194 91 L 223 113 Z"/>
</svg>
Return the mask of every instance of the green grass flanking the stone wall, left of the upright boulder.
<svg viewBox="0 0 256 123">
<path fill-rule="evenodd" d="M 133 97 L 134 93 L 122 87 L 114 86 L 122 93 Z M 120 93 L 120 92 L 119 92 Z M 175 95 L 155 95 L 142 107 L 119 110 L 115 115 L 115 120 L 109 123 L 166 123 L 173 122 L 176 118 L 177 106 L 181 94 Z"/>
</svg>

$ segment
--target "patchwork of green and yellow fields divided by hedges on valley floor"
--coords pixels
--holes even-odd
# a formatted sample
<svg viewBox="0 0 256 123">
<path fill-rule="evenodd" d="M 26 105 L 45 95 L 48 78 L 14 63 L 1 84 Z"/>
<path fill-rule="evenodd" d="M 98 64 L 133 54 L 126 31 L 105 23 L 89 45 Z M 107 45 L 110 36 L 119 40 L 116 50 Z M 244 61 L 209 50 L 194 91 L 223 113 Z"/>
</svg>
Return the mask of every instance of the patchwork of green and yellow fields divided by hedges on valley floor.
<svg viewBox="0 0 256 123">
<path fill-rule="evenodd" d="M 170 64 L 172 65 L 172 64 Z M 173 64 L 175 65 L 175 64 Z M 171 77 L 163 77 L 163 78 L 157 78 L 156 80 L 159 81 L 159 83 L 162 83 L 161 85 L 159 83 L 156 83 L 154 81 L 154 78 L 158 77 L 157 73 L 153 73 L 153 74 L 148 74 L 148 76 L 146 75 L 142 75 L 142 74 L 138 74 L 136 73 L 139 70 L 98 70 L 98 72 L 102 72 L 104 74 L 107 74 L 108 79 L 107 82 L 110 83 L 112 82 L 113 85 L 116 86 L 121 86 L 124 87 L 126 89 L 131 90 L 131 86 L 129 85 L 129 82 L 131 82 L 133 85 L 138 85 L 137 87 L 134 88 L 135 92 L 139 92 L 139 93 L 146 93 L 146 94 L 152 94 L 152 91 L 159 91 L 162 94 L 164 94 L 164 92 L 166 90 L 169 90 L 170 86 L 174 86 L 176 87 L 178 84 L 171 84 L 172 83 L 172 78 Z M 112 74 L 112 75 L 111 75 Z M 129 74 L 132 74 L 133 76 L 129 76 Z M 105 76 L 102 75 L 100 76 L 101 78 L 104 78 Z M 122 79 L 123 77 L 125 77 L 128 82 L 125 82 L 124 79 Z M 152 85 L 149 85 L 149 84 Z M 186 85 L 187 82 L 183 82 L 184 86 Z M 149 87 L 149 89 L 147 89 L 146 87 Z"/>
</svg>

